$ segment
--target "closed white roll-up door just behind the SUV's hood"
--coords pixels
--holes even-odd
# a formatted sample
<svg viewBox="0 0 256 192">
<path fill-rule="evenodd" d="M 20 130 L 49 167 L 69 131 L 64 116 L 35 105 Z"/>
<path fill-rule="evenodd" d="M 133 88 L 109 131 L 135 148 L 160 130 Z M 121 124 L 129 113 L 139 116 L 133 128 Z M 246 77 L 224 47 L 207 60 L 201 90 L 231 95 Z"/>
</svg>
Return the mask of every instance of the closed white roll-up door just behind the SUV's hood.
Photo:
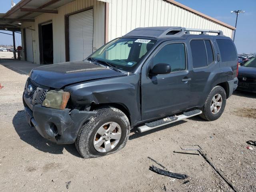
<svg viewBox="0 0 256 192">
<path fill-rule="evenodd" d="M 93 10 L 69 16 L 69 60 L 84 60 L 92 54 Z"/>
</svg>

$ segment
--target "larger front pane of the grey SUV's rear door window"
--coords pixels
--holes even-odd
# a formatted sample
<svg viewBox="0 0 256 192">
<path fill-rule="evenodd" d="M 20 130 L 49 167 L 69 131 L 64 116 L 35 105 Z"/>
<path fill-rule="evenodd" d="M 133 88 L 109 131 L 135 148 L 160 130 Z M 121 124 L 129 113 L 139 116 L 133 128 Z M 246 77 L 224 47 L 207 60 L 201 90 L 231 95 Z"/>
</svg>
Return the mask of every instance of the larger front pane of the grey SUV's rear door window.
<svg viewBox="0 0 256 192">
<path fill-rule="evenodd" d="M 192 52 L 193 67 L 199 68 L 207 66 L 204 40 L 191 40 L 190 47 Z"/>
</svg>

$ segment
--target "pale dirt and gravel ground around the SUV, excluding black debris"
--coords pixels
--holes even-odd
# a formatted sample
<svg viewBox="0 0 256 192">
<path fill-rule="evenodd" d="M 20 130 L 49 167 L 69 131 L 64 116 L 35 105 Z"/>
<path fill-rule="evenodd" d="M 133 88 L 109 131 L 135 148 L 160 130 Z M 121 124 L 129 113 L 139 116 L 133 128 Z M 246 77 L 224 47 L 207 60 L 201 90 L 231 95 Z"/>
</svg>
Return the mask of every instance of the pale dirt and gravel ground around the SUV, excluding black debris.
<svg viewBox="0 0 256 192">
<path fill-rule="evenodd" d="M 256 147 L 246 149 L 246 141 L 256 140 L 256 94 L 235 92 L 216 121 L 194 117 L 142 134 L 135 129 L 121 151 L 82 159 L 74 144 L 56 145 L 28 126 L 22 104 L 27 77 L 0 61 L 0 191 L 231 192 L 202 156 L 173 152 L 192 144 L 238 191 L 256 191 Z M 150 171 L 160 166 L 148 157 L 190 182 Z"/>
</svg>

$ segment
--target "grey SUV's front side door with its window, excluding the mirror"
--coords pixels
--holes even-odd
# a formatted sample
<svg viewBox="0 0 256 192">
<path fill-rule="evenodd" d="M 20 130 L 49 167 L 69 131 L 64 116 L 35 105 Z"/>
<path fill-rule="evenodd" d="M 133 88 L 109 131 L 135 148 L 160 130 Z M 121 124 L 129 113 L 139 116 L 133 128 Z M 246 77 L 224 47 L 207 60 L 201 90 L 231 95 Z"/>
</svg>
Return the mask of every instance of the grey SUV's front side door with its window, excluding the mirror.
<svg viewBox="0 0 256 192">
<path fill-rule="evenodd" d="M 164 42 L 147 61 L 141 74 L 142 120 L 176 114 L 190 107 L 191 74 L 185 42 Z M 170 64 L 171 72 L 149 75 L 158 63 Z"/>
</svg>

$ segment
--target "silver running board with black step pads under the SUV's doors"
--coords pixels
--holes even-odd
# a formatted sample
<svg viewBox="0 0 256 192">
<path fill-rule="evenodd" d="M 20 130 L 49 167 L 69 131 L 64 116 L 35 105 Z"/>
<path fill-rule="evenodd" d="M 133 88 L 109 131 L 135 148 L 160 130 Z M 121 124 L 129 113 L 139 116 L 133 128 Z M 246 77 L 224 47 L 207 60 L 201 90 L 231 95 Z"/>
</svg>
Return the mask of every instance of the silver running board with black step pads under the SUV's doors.
<svg viewBox="0 0 256 192">
<path fill-rule="evenodd" d="M 174 115 L 174 116 L 166 117 L 166 118 L 156 120 L 156 121 L 153 121 L 150 123 L 145 123 L 145 125 L 138 127 L 138 130 L 140 133 L 142 133 L 142 132 L 145 132 L 148 130 L 152 130 L 152 129 L 155 129 L 155 128 L 158 128 L 158 127 L 161 127 L 164 125 L 168 125 L 168 124 L 171 124 L 171 123 L 174 123 L 177 121 L 181 121 L 181 120 L 199 115 L 201 113 L 202 113 L 202 111 L 199 109 L 184 112 L 182 115 L 178 115 L 178 116 Z"/>
</svg>

